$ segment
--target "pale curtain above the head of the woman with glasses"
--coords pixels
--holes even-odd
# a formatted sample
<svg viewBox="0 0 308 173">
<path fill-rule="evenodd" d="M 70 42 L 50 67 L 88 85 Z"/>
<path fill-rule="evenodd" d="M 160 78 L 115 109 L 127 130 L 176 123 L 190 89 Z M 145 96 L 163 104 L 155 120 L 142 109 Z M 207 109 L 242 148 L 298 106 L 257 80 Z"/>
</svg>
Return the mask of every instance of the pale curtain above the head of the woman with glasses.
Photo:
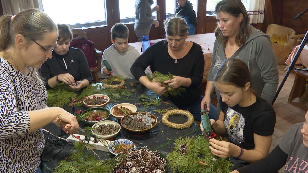
<svg viewBox="0 0 308 173">
<path fill-rule="evenodd" d="M 3 15 L 16 15 L 20 11 L 36 8 L 43 10 L 41 0 L 1 0 Z"/>
</svg>

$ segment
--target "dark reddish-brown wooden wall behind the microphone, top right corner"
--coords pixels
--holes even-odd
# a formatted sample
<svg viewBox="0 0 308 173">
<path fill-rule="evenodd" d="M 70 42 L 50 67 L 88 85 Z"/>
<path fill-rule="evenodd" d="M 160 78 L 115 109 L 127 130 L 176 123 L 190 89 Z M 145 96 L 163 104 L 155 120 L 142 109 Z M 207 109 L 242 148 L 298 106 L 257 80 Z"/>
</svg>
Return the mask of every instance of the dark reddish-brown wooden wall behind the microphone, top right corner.
<svg viewBox="0 0 308 173">
<path fill-rule="evenodd" d="M 284 0 L 282 25 L 294 29 L 296 34 L 305 34 L 308 28 L 308 13 L 296 20 L 293 18 L 306 8 L 308 8 L 307 0 Z"/>
</svg>

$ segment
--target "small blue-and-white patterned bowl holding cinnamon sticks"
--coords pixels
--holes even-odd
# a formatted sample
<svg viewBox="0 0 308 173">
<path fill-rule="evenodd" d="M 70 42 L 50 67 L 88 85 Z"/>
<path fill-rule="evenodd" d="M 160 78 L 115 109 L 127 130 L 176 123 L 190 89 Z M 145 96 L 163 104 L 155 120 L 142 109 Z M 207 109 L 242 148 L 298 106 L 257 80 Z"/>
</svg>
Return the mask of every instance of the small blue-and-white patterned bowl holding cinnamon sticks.
<svg viewBox="0 0 308 173">
<path fill-rule="evenodd" d="M 127 139 L 118 139 L 110 144 L 109 151 L 110 153 L 117 155 L 121 153 L 121 151 L 129 150 L 133 147 L 135 147 L 135 144 L 132 141 Z"/>
</svg>

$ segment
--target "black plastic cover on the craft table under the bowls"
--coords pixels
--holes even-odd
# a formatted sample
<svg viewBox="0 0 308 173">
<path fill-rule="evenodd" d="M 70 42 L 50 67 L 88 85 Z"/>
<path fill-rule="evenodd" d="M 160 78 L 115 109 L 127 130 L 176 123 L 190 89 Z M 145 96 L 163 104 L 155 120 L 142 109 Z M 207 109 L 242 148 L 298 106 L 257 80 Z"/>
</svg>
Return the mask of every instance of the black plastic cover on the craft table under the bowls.
<svg viewBox="0 0 308 173">
<path fill-rule="evenodd" d="M 148 96 L 154 96 L 155 93 L 151 92 L 150 90 L 148 90 L 146 87 L 144 87 L 142 84 L 137 84 L 136 86 L 130 86 L 129 82 L 136 82 L 133 79 L 127 79 L 125 82 L 125 86 L 128 87 L 128 89 L 135 89 L 135 92 L 133 93 L 133 96 L 130 97 L 121 97 L 120 100 L 117 100 L 118 102 L 110 102 L 108 103 L 105 108 L 107 108 L 108 110 L 110 110 L 111 107 L 113 107 L 116 104 L 119 103 L 131 103 L 131 104 L 135 104 L 137 107 L 137 111 L 140 110 L 144 110 L 144 106 L 140 105 L 138 106 L 137 103 L 139 103 L 138 101 L 138 97 L 140 97 L 141 94 L 146 94 Z M 157 118 L 157 125 L 151 129 L 151 131 L 143 136 L 135 136 L 132 135 L 130 133 L 128 133 L 124 128 L 121 128 L 120 133 L 114 138 L 114 140 L 116 139 L 129 139 L 131 141 L 133 141 L 135 143 L 135 145 L 137 147 L 142 147 L 142 146 L 147 146 L 148 148 L 151 149 L 155 149 L 158 150 L 159 152 L 161 152 L 163 155 L 167 155 L 169 152 L 172 151 L 172 147 L 173 142 L 175 139 L 178 139 L 180 137 L 185 137 L 185 136 L 192 136 L 192 135 L 199 135 L 201 134 L 201 130 L 199 128 L 199 126 L 195 123 L 193 123 L 190 128 L 185 128 L 185 129 L 174 129 L 174 128 L 169 128 L 167 126 L 165 126 L 162 123 L 162 115 L 163 113 L 157 113 L 154 110 L 155 109 L 166 109 L 168 107 L 175 107 L 177 108 L 171 101 L 169 101 L 167 98 L 164 98 L 162 96 L 157 96 L 160 99 L 162 99 L 162 101 L 168 102 L 170 104 L 164 104 L 161 103 L 159 106 L 150 106 L 148 108 L 146 108 L 146 112 L 150 112 L 153 113 L 156 118 Z M 66 111 L 70 112 L 70 113 L 75 113 L 76 110 L 86 110 L 86 107 L 63 107 Z M 110 115 L 111 116 L 111 115 Z M 117 119 L 113 118 L 111 116 L 110 120 L 116 121 L 118 122 Z M 184 123 L 187 121 L 187 118 L 185 116 L 179 116 L 179 115 L 175 115 L 172 116 L 168 119 L 170 122 L 174 122 L 174 123 Z M 119 122 L 118 122 L 119 123 Z M 79 125 L 81 128 L 83 128 L 85 126 L 85 124 L 83 122 L 79 122 Z M 47 126 L 44 127 L 44 129 L 52 132 L 55 135 L 60 135 L 61 134 L 61 129 L 56 127 L 54 124 L 50 123 Z M 63 132 L 63 131 L 62 131 Z M 68 135 L 66 135 L 68 136 Z M 45 139 L 47 139 L 47 136 L 45 134 Z M 64 160 L 67 156 L 70 155 L 70 153 L 73 151 L 73 147 L 71 145 L 65 145 L 63 150 L 61 152 L 59 152 L 63 147 L 51 147 L 46 145 L 45 149 L 43 151 L 42 154 L 42 172 L 52 172 L 52 169 L 55 168 L 58 163 L 61 160 Z M 59 153 L 58 153 L 59 152 Z M 95 150 L 96 154 L 99 155 L 101 160 L 105 160 L 105 159 L 109 159 L 109 158 L 113 158 L 114 155 L 111 153 L 107 153 L 107 152 L 103 152 L 103 151 L 97 151 Z M 57 154 L 58 153 L 58 154 Z M 52 159 L 52 160 L 51 160 Z M 47 160 L 51 160 L 51 161 L 47 161 Z M 45 162 L 47 161 L 47 162 Z M 168 170 L 168 172 L 170 172 Z"/>
</svg>

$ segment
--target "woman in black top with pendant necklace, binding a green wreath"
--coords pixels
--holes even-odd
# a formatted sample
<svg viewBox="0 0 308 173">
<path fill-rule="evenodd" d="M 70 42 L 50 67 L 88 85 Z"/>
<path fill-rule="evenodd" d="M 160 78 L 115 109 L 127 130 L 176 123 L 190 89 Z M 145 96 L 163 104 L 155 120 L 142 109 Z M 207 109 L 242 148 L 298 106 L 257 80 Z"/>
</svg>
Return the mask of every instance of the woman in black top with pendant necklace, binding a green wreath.
<svg viewBox="0 0 308 173">
<path fill-rule="evenodd" d="M 165 86 L 158 82 L 151 83 L 144 70 L 147 66 L 151 71 L 162 74 L 173 74 L 172 80 L 165 81 L 172 88 L 186 88 L 179 96 L 168 96 L 177 107 L 189 110 L 200 120 L 201 81 L 204 69 L 203 52 L 200 45 L 186 41 L 188 27 L 184 18 L 166 19 L 166 40 L 151 45 L 131 66 L 130 71 L 136 80 L 158 95 L 166 92 Z"/>
</svg>

